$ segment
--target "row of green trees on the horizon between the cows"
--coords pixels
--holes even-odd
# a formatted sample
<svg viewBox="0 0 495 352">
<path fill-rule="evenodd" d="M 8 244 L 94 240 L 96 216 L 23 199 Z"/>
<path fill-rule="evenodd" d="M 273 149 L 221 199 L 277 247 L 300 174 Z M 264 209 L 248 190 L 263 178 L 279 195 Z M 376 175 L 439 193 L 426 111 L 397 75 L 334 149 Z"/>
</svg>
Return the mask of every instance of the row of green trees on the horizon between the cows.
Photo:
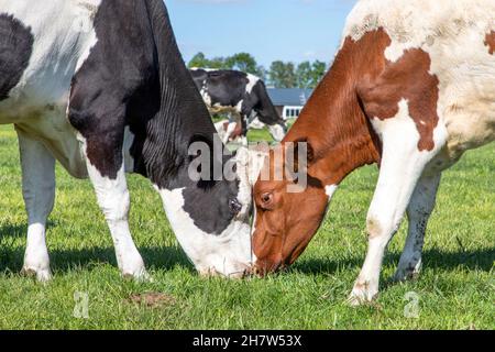
<svg viewBox="0 0 495 352">
<path fill-rule="evenodd" d="M 273 62 L 268 69 L 258 65 L 249 53 L 239 53 L 227 57 L 208 58 L 204 53 L 196 54 L 188 63 L 189 67 L 216 69 L 237 69 L 261 77 L 276 88 L 316 88 L 327 72 L 323 62 Z"/>
</svg>

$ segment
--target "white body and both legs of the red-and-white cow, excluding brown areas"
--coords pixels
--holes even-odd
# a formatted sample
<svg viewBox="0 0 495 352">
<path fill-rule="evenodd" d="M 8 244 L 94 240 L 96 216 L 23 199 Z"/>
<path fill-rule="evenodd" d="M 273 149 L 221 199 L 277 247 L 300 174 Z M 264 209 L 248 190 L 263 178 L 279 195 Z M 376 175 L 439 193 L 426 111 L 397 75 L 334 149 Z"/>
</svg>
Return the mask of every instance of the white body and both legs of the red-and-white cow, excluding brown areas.
<svg viewBox="0 0 495 352">
<path fill-rule="evenodd" d="M 367 217 L 370 246 L 351 295 L 353 304 L 377 294 L 384 249 L 406 209 L 409 234 L 396 279 L 419 272 L 441 172 L 465 151 L 495 140 L 495 56 L 485 43 L 485 36 L 495 31 L 495 1 L 361 0 L 348 18 L 343 38 L 359 41 L 378 29 L 392 40 L 384 53 L 389 63 L 398 62 L 406 51 L 428 53 L 429 74 L 439 81 L 439 122 L 435 147 L 418 151 L 420 134 L 407 99 L 399 101 L 395 118 L 372 119 L 383 155 Z"/>
</svg>

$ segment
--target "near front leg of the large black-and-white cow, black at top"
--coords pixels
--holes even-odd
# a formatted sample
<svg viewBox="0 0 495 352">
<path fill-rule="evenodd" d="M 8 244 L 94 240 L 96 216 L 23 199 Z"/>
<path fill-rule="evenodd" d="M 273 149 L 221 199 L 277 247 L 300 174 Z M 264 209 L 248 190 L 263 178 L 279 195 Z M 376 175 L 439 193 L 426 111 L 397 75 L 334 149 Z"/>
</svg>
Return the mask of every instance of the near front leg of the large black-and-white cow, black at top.
<svg viewBox="0 0 495 352">
<path fill-rule="evenodd" d="M 129 229 L 130 195 L 125 180 L 120 135 L 91 135 L 84 141 L 88 174 L 116 246 L 117 263 L 124 277 L 147 279 L 144 262 Z"/>
</svg>

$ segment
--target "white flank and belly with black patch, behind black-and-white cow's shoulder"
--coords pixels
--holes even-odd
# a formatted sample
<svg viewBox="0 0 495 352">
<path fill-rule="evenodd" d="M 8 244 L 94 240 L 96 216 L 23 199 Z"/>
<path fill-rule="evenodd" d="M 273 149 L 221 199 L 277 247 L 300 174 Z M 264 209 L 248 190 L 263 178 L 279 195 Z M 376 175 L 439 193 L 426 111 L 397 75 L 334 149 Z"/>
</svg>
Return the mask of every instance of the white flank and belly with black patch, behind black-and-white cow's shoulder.
<svg viewBox="0 0 495 352">
<path fill-rule="evenodd" d="M 66 112 L 72 79 L 96 41 L 99 0 L 0 0 L 0 124 L 41 140 L 77 177 L 84 157 Z"/>
</svg>

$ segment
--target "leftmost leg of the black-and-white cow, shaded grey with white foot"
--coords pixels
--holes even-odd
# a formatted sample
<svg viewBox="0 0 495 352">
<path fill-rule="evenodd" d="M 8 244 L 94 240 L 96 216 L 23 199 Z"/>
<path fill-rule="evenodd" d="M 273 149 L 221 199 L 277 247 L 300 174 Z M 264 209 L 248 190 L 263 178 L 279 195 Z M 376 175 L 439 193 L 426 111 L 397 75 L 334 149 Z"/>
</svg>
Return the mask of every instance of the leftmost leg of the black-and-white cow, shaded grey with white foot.
<svg viewBox="0 0 495 352">
<path fill-rule="evenodd" d="M 52 277 L 46 249 L 46 219 L 55 199 L 55 158 L 38 141 L 16 128 L 22 166 L 22 193 L 28 212 L 28 243 L 22 273 L 40 282 Z"/>
</svg>

